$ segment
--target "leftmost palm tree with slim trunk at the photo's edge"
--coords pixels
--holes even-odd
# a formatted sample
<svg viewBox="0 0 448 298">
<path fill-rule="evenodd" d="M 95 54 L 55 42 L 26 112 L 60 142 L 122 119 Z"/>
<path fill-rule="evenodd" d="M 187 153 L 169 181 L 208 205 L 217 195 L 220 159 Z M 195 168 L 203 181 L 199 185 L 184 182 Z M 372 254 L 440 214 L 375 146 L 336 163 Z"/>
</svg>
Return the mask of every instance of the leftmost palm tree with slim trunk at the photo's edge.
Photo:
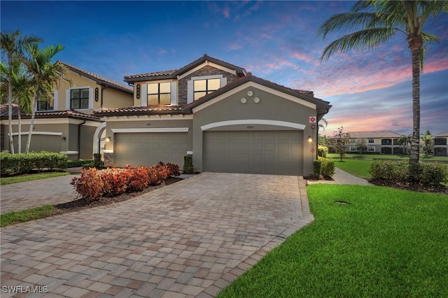
<svg viewBox="0 0 448 298">
<path fill-rule="evenodd" d="M 31 43 L 40 43 L 43 39 L 34 36 L 23 36 L 20 38 L 20 30 L 1 32 L 0 44 L 1 53 L 8 57 L 8 127 L 9 127 L 9 148 L 10 152 L 14 154 L 14 143 L 13 143 L 13 90 L 12 90 L 12 64 L 14 55 L 22 55 L 25 47 Z"/>
</svg>

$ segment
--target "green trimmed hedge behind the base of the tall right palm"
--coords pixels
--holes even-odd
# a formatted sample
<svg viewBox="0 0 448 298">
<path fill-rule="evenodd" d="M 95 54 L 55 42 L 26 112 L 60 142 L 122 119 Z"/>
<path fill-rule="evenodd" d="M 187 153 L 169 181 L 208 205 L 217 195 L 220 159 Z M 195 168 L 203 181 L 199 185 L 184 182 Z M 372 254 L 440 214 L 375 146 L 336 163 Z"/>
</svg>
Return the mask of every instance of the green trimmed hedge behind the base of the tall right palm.
<svg viewBox="0 0 448 298">
<path fill-rule="evenodd" d="M 408 162 L 387 162 L 375 160 L 370 164 L 370 174 L 374 180 L 392 183 L 416 182 L 422 185 L 447 183 L 448 169 L 442 164 L 416 164 L 416 180 L 410 175 Z"/>
</svg>

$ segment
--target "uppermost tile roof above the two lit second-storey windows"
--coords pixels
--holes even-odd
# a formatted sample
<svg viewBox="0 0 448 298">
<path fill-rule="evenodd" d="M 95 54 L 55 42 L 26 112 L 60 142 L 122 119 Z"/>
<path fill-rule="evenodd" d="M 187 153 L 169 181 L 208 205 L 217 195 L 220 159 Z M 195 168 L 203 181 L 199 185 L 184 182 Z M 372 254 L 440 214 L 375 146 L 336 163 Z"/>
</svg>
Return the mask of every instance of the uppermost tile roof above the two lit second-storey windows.
<svg viewBox="0 0 448 298">
<path fill-rule="evenodd" d="M 216 64 L 220 64 L 222 66 L 228 67 L 229 69 L 234 69 L 239 76 L 246 76 L 246 70 L 236 66 L 234 64 L 230 64 L 228 62 L 224 62 L 220 59 L 216 59 L 214 57 L 210 57 L 207 54 L 204 54 L 204 56 L 200 57 L 199 59 L 196 59 L 195 61 L 191 62 L 190 64 L 187 64 L 186 66 L 183 66 L 181 69 L 172 69 L 169 71 L 155 71 L 151 73 L 141 73 L 136 75 L 130 75 L 125 76 L 125 82 L 137 82 L 139 80 L 160 80 L 164 78 L 176 78 L 177 76 L 181 75 L 182 73 L 186 73 L 190 69 L 195 68 L 196 66 L 204 63 L 205 61 L 214 62 Z"/>
</svg>

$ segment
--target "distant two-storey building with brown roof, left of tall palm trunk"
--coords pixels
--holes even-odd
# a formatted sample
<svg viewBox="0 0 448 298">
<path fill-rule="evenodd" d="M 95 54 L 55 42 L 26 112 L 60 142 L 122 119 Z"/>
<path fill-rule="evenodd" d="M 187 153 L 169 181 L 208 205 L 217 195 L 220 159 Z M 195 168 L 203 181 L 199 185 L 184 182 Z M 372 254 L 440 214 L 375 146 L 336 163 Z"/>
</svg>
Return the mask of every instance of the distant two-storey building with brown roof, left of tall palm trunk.
<svg viewBox="0 0 448 298">
<path fill-rule="evenodd" d="M 359 152 L 359 144 L 365 146 L 363 152 L 381 154 L 403 154 L 406 148 L 399 145 L 400 134 L 388 130 L 370 132 L 349 132 L 350 143 L 346 145 L 346 152 Z M 362 140 L 362 141 L 361 141 Z"/>
</svg>

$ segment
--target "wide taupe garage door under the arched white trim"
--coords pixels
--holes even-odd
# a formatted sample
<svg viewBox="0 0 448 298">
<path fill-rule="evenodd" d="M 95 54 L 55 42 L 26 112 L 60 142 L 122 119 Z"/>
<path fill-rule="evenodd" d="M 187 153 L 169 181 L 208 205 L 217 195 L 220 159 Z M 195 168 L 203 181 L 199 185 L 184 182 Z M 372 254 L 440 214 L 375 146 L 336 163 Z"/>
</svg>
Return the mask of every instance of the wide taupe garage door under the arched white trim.
<svg viewBox="0 0 448 298">
<path fill-rule="evenodd" d="M 204 132 L 204 170 L 302 175 L 302 131 Z"/>
</svg>

